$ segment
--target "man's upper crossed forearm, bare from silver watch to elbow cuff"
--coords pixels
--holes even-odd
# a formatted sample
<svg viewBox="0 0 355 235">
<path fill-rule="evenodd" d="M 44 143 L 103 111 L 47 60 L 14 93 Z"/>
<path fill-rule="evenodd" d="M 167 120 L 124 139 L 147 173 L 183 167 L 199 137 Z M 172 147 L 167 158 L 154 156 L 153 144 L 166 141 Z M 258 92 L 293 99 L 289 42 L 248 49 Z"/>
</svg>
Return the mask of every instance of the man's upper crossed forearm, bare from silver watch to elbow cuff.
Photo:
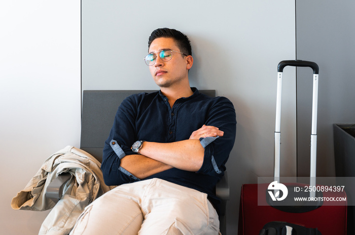
<svg viewBox="0 0 355 235">
<path fill-rule="evenodd" d="M 139 153 L 181 170 L 198 171 L 203 163 L 204 148 L 197 139 L 173 143 L 144 142 Z"/>
</svg>

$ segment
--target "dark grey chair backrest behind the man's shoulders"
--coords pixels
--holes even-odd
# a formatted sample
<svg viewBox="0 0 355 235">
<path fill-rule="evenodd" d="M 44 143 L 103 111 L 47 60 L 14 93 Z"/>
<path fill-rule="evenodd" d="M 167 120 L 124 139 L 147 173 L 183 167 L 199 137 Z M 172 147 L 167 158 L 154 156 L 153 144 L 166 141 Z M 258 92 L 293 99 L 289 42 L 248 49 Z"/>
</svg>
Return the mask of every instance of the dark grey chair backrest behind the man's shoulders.
<svg viewBox="0 0 355 235">
<path fill-rule="evenodd" d="M 102 162 L 102 150 L 121 102 L 128 96 L 156 90 L 84 90 L 80 149 Z M 215 97 L 216 90 L 199 90 Z"/>
</svg>

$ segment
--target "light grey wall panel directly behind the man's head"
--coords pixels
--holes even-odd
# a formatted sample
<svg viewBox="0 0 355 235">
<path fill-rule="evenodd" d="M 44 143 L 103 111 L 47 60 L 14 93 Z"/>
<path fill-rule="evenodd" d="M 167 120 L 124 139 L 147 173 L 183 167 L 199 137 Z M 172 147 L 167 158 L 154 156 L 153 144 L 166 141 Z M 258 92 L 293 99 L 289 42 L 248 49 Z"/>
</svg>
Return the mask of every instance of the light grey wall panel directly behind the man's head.
<svg viewBox="0 0 355 235">
<path fill-rule="evenodd" d="M 159 27 L 190 37 L 191 85 L 216 89 L 235 106 L 227 226 L 229 234 L 236 234 L 241 184 L 273 174 L 277 64 L 296 59 L 295 2 L 84 1 L 82 88 L 159 89 L 143 61 L 148 37 Z M 281 131 L 287 154 L 281 172 L 296 176 L 295 69 L 285 69 L 284 77 Z"/>
</svg>

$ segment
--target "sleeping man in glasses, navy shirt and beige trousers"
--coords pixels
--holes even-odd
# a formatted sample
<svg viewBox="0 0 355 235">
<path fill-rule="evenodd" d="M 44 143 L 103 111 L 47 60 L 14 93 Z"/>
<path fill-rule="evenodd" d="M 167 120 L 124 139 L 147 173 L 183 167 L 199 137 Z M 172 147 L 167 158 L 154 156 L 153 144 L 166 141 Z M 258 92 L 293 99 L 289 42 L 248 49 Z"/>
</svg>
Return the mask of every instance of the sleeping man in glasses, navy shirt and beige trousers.
<svg viewBox="0 0 355 235">
<path fill-rule="evenodd" d="M 191 88 L 187 36 L 152 32 L 145 61 L 160 91 L 125 99 L 105 142 L 105 183 L 72 234 L 218 234 L 215 186 L 235 140 L 232 103 Z M 216 208 L 216 209 L 215 209 Z"/>
</svg>

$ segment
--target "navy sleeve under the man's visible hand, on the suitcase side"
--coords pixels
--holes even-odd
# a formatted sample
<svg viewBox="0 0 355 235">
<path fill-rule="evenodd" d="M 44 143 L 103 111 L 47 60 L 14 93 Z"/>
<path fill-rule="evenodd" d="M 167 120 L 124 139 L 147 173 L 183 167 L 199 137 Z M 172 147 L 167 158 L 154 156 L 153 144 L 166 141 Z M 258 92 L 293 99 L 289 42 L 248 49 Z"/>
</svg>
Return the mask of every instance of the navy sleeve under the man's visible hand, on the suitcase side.
<svg viewBox="0 0 355 235">
<path fill-rule="evenodd" d="M 223 176 L 226 170 L 225 164 L 235 142 L 236 123 L 233 104 L 224 97 L 217 99 L 208 113 L 205 125 L 218 127 L 224 131 L 224 135 L 200 138 L 200 143 L 204 148 L 204 158 L 197 173 Z"/>
</svg>

